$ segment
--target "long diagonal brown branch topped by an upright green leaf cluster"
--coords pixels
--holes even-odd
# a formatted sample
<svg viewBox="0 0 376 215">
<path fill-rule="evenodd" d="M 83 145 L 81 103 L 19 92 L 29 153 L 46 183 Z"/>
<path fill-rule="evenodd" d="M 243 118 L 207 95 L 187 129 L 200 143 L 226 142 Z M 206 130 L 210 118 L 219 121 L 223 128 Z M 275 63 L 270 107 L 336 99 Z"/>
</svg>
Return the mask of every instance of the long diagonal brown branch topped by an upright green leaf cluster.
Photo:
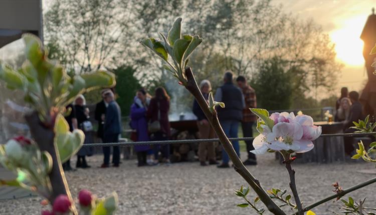
<svg viewBox="0 0 376 215">
<path fill-rule="evenodd" d="M 232 146 L 230 140 L 227 138 L 225 132 L 223 131 L 221 124 L 218 120 L 217 113 L 213 113 L 208 108 L 208 103 L 205 100 L 203 94 L 200 91 L 199 86 L 197 85 L 195 76 L 191 70 L 191 67 L 185 69 L 185 75 L 187 78 L 187 84 L 185 88 L 189 90 L 196 98 L 201 109 L 204 111 L 207 116 L 210 124 L 215 130 L 218 138 L 220 139 L 225 151 L 229 154 L 230 159 L 234 163 L 235 170 L 249 183 L 249 185 L 255 190 L 257 195 L 260 197 L 260 200 L 268 207 L 269 211 L 274 214 L 286 214 L 268 195 L 268 193 L 261 187 L 259 181 L 248 171 L 244 166 L 239 156 L 236 154 L 234 147 Z"/>
</svg>

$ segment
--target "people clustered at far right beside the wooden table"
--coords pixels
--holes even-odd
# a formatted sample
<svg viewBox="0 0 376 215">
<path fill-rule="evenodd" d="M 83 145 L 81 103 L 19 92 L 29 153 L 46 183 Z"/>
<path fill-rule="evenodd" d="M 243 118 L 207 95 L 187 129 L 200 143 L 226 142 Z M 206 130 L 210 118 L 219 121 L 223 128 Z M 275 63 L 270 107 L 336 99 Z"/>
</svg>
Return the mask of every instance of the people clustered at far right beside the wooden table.
<svg viewBox="0 0 376 215">
<path fill-rule="evenodd" d="M 359 101 L 359 93 L 356 91 L 348 92 L 347 87 L 341 88 L 341 96 L 337 99 L 336 114 L 334 121 L 340 121 L 343 123 L 343 132 L 352 133 L 355 131 L 351 128 L 353 121 L 364 119 L 363 107 Z M 353 155 L 354 146 L 352 137 L 344 137 L 345 152 L 348 155 Z"/>
</svg>

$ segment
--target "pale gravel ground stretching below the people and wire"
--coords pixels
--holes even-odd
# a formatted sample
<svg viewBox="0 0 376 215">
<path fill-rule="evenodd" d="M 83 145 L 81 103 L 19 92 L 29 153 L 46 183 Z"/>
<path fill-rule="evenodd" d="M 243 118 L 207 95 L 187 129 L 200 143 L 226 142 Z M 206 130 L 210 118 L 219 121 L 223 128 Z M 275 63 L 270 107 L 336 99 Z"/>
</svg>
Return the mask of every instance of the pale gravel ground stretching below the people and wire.
<svg viewBox="0 0 376 215">
<path fill-rule="evenodd" d="M 236 207 L 243 201 L 234 195 L 234 189 L 245 184 L 245 180 L 233 168 L 202 167 L 199 162 L 136 167 L 135 160 L 123 160 L 119 168 L 100 169 L 97 166 L 101 160 L 101 155 L 89 157 L 92 167 L 68 172 L 67 179 L 74 196 L 80 189 L 89 189 L 98 196 L 116 191 L 119 195 L 117 214 L 255 214 L 251 208 Z M 273 154 L 258 156 L 258 162 L 257 166 L 248 168 L 264 188 L 288 188 L 288 173 L 274 160 Z M 346 188 L 375 176 L 358 172 L 374 168 L 373 164 L 362 161 L 293 164 L 293 167 L 300 197 L 306 204 L 332 194 L 334 181 Z M 375 189 L 376 185 L 372 184 L 351 196 L 367 196 L 366 204 L 375 206 Z M 255 194 L 251 191 L 250 196 Z M 40 197 L 28 197 L 0 201 L 0 214 L 40 214 L 41 200 Z M 332 201 L 314 209 L 316 214 L 332 214 L 330 210 L 338 211 Z"/>
</svg>

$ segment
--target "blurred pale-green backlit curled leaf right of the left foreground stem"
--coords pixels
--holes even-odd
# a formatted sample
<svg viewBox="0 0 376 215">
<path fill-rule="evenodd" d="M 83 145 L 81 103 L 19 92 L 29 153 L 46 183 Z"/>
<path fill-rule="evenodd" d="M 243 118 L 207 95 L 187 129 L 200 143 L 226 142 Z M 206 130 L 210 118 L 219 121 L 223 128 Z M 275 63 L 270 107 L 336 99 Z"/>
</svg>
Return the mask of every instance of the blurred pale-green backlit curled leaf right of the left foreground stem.
<svg viewBox="0 0 376 215">
<path fill-rule="evenodd" d="M 69 131 L 69 125 L 62 114 L 58 114 L 55 121 L 55 144 L 58 147 L 60 160 L 67 161 L 81 148 L 85 134 L 80 129 Z"/>
</svg>

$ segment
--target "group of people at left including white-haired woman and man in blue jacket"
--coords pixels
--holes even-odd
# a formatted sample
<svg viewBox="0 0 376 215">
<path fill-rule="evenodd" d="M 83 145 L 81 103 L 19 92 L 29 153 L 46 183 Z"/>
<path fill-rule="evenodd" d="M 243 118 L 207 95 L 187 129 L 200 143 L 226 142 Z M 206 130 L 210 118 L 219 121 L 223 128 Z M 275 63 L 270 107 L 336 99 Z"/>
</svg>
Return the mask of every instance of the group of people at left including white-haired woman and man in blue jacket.
<svg viewBox="0 0 376 215">
<path fill-rule="evenodd" d="M 98 137 L 103 142 L 119 142 L 119 137 L 122 131 L 121 126 L 121 112 L 120 107 L 115 101 L 115 96 L 111 89 L 104 89 L 101 92 L 102 101 L 96 105 L 95 119 L 98 120 Z M 69 124 L 70 131 L 73 129 L 81 129 L 85 134 L 93 130 L 93 125 L 90 122 L 90 111 L 86 107 L 85 97 L 78 95 L 72 104 L 67 107 L 69 113 L 65 116 Z M 91 135 L 85 135 L 84 143 L 92 143 Z M 90 168 L 86 161 L 86 156 L 93 154 L 93 148 L 81 147 L 77 152 L 76 168 Z M 110 146 L 103 146 L 103 163 L 101 168 L 109 167 L 110 161 Z M 113 146 L 112 163 L 114 167 L 118 167 L 120 163 L 120 149 L 119 146 Z M 64 170 L 74 170 L 70 164 L 70 160 L 63 163 Z"/>
</svg>

